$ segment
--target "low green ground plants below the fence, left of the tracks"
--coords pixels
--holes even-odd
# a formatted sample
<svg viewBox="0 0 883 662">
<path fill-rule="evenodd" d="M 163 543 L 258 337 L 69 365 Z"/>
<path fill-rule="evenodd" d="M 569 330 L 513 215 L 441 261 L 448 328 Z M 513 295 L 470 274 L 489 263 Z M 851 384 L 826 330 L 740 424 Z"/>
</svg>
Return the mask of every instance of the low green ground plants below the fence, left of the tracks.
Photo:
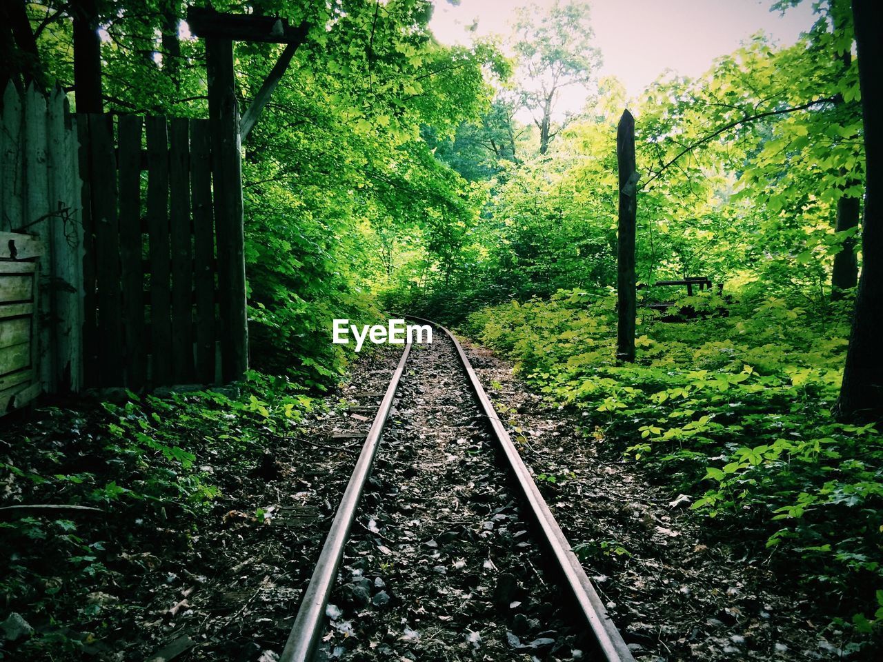
<svg viewBox="0 0 883 662">
<path fill-rule="evenodd" d="M 224 479 L 252 470 L 268 435 L 291 434 L 314 406 L 302 387 L 251 372 L 232 398 L 215 391 L 129 394 L 87 416 L 47 410 L 34 439 L 0 446 L 8 496 L 103 511 L 76 521 L 0 522 L 0 593 L 9 611 L 39 626 L 16 653 L 68 658 L 90 635 L 101 638 L 109 627 L 102 595 L 118 594 L 120 573 L 186 549 Z M 148 536 L 157 546 L 142 543 L 136 559 L 130 545 L 144 527 L 162 531 Z"/>
</svg>

